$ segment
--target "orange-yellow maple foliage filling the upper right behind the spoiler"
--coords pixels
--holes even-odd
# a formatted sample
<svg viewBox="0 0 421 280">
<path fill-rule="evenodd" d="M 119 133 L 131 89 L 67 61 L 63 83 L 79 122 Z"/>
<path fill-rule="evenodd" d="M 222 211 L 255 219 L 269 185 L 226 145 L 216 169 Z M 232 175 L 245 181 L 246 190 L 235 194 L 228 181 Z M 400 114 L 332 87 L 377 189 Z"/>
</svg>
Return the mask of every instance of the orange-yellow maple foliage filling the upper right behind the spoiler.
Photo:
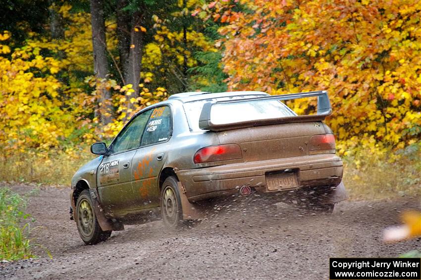
<svg viewBox="0 0 421 280">
<path fill-rule="evenodd" d="M 419 1 L 236 0 L 199 15 L 225 23 L 229 89 L 327 90 L 343 143 L 403 148 L 421 135 L 420 11 Z"/>
</svg>

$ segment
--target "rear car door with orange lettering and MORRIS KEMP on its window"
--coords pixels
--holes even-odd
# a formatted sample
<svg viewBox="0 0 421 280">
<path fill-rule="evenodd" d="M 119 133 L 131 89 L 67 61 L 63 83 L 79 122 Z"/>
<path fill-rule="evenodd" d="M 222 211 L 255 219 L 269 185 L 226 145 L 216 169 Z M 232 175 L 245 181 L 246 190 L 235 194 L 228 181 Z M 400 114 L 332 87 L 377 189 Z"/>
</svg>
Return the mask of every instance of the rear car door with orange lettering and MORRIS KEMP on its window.
<svg viewBox="0 0 421 280">
<path fill-rule="evenodd" d="M 133 193 L 140 208 L 159 206 L 158 176 L 169 151 L 172 114 L 169 106 L 153 109 L 133 157 Z"/>
</svg>

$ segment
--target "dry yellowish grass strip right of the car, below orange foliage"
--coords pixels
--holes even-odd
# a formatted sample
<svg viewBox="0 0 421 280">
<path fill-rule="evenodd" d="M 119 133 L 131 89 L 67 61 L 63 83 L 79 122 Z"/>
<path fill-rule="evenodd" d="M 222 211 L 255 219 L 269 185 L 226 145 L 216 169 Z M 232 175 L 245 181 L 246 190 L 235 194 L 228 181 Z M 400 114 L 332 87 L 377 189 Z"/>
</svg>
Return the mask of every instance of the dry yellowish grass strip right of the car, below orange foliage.
<svg viewBox="0 0 421 280">
<path fill-rule="evenodd" d="M 421 146 L 396 152 L 355 149 L 342 157 L 351 199 L 421 196 Z"/>
</svg>

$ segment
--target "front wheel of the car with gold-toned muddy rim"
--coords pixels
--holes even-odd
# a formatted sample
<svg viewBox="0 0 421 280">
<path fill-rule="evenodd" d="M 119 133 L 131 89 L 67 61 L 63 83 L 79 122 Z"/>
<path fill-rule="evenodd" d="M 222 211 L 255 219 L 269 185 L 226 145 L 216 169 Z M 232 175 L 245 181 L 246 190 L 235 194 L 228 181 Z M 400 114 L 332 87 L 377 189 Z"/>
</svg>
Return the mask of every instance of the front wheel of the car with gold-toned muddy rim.
<svg viewBox="0 0 421 280">
<path fill-rule="evenodd" d="M 83 190 L 77 198 L 76 213 L 77 231 L 85 244 L 103 242 L 111 235 L 111 230 L 103 231 L 98 223 L 89 190 Z"/>
</svg>

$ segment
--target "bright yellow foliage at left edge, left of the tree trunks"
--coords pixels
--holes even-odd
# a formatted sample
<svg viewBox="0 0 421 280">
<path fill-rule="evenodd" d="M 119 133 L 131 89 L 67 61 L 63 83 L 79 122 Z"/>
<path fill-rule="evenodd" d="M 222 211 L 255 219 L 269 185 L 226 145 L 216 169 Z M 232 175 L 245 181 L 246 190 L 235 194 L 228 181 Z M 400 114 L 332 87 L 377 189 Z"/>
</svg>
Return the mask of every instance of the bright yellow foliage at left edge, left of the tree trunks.
<svg viewBox="0 0 421 280">
<path fill-rule="evenodd" d="M 0 142 L 5 151 L 49 149 L 77 128 L 76 114 L 64 109 L 75 96 L 50 75 L 63 64 L 36 55 L 38 52 L 39 48 L 30 44 L 15 49 L 11 59 L 0 57 Z M 32 68 L 43 75 L 35 76 Z M 68 93 L 68 101 L 57 98 L 58 91 Z"/>
</svg>

